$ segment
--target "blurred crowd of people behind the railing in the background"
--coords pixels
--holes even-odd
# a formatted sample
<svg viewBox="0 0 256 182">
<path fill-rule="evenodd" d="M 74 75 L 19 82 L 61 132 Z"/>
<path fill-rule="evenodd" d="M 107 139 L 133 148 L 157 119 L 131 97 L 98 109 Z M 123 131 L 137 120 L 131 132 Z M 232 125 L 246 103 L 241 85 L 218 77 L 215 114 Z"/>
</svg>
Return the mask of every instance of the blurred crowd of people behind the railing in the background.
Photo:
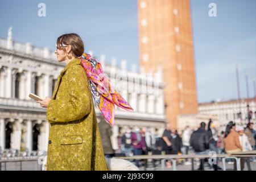
<svg viewBox="0 0 256 182">
<path fill-rule="evenodd" d="M 230 121 L 225 131 L 218 131 L 212 119 L 209 119 L 208 124 L 201 122 L 197 130 L 192 130 L 187 126 L 181 133 L 172 129 L 170 123 L 166 124 L 166 129 L 160 135 L 157 129 L 155 132 L 152 132 L 147 127 L 125 127 L 123 130 L 124 132 L 118 136 L 119 152 L 109 148 L 109 152 L 105 152 L 106 156 L 179 155 L 189 154 L 189 152 L 192 154 L 208 155 L 209 151 L 214 151 L 216 154 L 231 154 L 233 152 L 255 150 L 256 135 L 253 122 L 248 123 L 244 128 L 242 126 L 236 126 L 236 123 Z M 109 136 L 112 135 L 108 129 L 104 129 L 104 132 L 110 132 Z M 106 137 L 104 138 L 106 140 Z M 107 147 L 109 146 L 110 140 L 108 142 L 102 141 L 102 143 L 103 146 L 106 143 Z M 247 162 L 247 168 L 250 170 L 250 162 L 252 160 L 255 159 L 241 159 L 241 169 L 244 168 L 244 164 Z M 200 159 L 199 170 L 204 170 L 206 161 L 207 159 Z M 217 171 L 221 169 L 217 162 L 218 160 L 212 165 L 207 164 L 210 168 Z M 183 163 L 186 165 L 191 164 L 187 159 Z M 236 169 L 236 162 L 230 163 L 234 163 L 234 169 Z M 136 160 L 135 164 L 138 167 L 142 165 L 139 160 Z M 171 161 L 167 161 L 166 166 L 171 167 Z"/>
</svg>

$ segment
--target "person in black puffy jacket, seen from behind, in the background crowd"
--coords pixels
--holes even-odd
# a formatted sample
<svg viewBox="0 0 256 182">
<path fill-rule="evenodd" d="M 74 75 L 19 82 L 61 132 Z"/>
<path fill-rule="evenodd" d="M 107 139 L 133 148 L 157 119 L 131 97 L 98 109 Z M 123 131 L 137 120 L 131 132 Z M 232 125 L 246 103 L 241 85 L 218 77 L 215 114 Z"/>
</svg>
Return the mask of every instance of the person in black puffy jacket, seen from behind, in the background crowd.
<svg viewBox="0 0 256 182">
<path fill-rule="evenodd" d="M 200 128 L 191 135 L 190 144 L 198 155 L 207 154 L 209 149 L 209 135 L 205 130 L 205 122 L 200 123 Z M 204 159 L 200 159 L 199 170 L 204 170 Z"/>
</svg>

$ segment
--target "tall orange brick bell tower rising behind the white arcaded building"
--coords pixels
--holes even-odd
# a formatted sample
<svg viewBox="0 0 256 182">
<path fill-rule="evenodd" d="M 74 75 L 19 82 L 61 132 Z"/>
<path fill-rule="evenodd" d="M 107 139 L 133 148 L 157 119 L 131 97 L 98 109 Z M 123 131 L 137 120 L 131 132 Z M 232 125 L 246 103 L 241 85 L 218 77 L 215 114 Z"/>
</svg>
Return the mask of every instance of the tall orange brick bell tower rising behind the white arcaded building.
<svg viewBox="0 0 256 182">
<path fill-rule="evenodd" d="M 138 0 L 139 60 L 146 72 L 162 65 L 166 119 L 197 113 L 189 0 Z"/>
</svg>

